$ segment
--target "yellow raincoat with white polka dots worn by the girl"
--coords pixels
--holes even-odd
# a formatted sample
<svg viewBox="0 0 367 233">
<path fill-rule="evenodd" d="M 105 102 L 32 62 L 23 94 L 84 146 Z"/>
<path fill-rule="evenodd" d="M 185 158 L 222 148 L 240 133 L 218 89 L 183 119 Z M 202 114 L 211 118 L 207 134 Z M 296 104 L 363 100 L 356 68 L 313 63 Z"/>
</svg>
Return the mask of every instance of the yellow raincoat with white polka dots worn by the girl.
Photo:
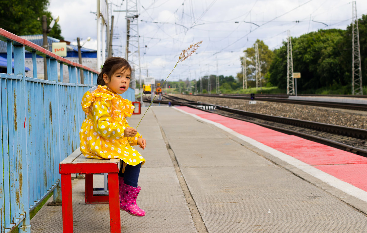
<svg viewBox="0 0 367 233">
<path fill-rule="evenodd" d="M 83 155 L 94 159 L 119 158 L 133 166 L 145 163 L 143 156 L 132 148 L 141 135 L 124 136 L 125 128 L 130 127 L 126 117 L 134 112 L 131 101 L 99 85 L 94 91 L 84 93 L 81 106 L 87 115 L 79 132 Z"/>
</svg>

